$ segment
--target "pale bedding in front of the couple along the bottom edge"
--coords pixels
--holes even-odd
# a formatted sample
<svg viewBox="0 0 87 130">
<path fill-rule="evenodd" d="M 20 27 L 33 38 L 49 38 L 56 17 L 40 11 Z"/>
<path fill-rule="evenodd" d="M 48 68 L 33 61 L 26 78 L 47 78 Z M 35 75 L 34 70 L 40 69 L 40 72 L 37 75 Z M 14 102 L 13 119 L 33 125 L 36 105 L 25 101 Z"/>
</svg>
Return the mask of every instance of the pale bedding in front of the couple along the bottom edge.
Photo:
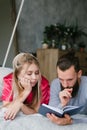
<svg viewBox="0 0 87 130">
<path fill-rule="evenodd" d="M 5 121 L 1 116 L 0 130 L 87 130 L 87 124 L 58 126 L 39 114 L 26 116 L 20 113 L 13 121 Z"/>
</svg>

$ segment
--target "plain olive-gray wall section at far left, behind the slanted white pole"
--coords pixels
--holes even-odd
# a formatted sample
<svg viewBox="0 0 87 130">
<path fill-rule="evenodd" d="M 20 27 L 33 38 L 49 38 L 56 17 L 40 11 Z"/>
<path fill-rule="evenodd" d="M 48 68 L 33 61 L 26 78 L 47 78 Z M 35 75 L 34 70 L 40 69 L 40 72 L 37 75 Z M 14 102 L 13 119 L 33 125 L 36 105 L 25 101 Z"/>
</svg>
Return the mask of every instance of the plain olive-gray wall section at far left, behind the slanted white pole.
<svg viewBox="0 0 87 130">
<path fill-rule="evenodd" d="M 12 33 L 12 19 L 11 19 L 11 3 L 10 0 L 0 0 L 0 66 L 2 66 L 5 53 L 7 51 L 8 43 Z M 12 66 L 12 60 L 15 55 L 14 44 L 12 44 L 6 67 Z"/>
</svg>

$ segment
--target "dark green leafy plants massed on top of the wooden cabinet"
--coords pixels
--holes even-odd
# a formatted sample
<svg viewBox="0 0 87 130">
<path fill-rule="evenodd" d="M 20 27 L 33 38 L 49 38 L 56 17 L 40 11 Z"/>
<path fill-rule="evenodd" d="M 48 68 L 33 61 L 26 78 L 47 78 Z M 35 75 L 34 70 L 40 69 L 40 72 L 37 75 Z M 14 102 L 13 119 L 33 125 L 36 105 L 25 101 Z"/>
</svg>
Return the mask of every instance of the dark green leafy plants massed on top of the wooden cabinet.
<svg viewBox="0 0 87 130">
<path fill-rule="evenodd" d="M 78 45 L 78 39 L 82 40 L 82 36 L 87 37 L 87 33 L 83 31 L 83 28 L 76 24 L 66 24 L 66 22 L 57 23 L 55 25 L 46 26 L 44 29 L 44 35 L 49 41 L 49 46 L 52 47 L 52 41 L 55 41 L 55 47 L 61 48 L 66 45 L 66 49 L 74 48 L 74 45 Z M 64 42 L 64 40 L 66 42 Z M 66 44 L 65 44 L 66 43 Z"/>
</svg>

